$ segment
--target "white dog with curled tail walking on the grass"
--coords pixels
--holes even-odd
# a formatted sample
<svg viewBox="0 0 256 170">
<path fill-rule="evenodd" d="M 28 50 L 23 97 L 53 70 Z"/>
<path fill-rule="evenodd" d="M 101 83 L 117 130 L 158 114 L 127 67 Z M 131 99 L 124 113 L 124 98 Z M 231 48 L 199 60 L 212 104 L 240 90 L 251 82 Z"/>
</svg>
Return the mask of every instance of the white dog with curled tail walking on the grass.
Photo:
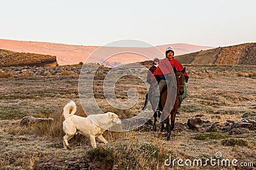
<svg viewBox="0 0 256 170">
<path fill-rule="evenodd" d="M 72 112 L 70 113 L 70 110 Z M 99 138 L 100 141 L 105 144 L 108 143 L 106 139 L 103 138 L 102 133 L 109 129 L 114 124 L 121 124 L 121 120 L 115 113 L 104 113 L 98 115 L 89 115 L 88 117 L 79 117 L 74 115 L 76 113 L 76 104 L 74 101 L 70 101 L 63 108 L 63 115 L 65 121 L 63 122 L 63 131 L 65 136 L 63 137 L 63 146 L 67 150 L 70 149 L 68 146 L 68 140 L 73 138 L 77 133 L 83 134 L 84 136 L 89 136 L 93 148 L 96 148 L 95 137 Z M 100 125 L 100 126 L 99 126 Z"/>
</svg>

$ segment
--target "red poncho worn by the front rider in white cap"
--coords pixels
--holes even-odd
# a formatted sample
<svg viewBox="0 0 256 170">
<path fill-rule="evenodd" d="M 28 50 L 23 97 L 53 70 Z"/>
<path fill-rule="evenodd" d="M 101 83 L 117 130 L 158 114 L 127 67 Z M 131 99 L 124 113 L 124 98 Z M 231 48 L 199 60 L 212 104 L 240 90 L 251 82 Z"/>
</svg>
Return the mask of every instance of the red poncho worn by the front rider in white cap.
<svg viewBox="0 0 256 170">
<path fill-rule="evenodd" d="M 167 57 L 165 57 L 165 59 L 161 60 L 159 62 L 159 66 L 156 68 L 156 70 L 154 71 L 153 75 L 163 75 L 163 74 L 170 74 L 173 73 L 173 68 L 176 68 L 177 71 L 182 71 L 182 69 L 184 68 L 182 66 L 182 64 L 180 64 L 180 62 L 176 59 L 168 59 Z M 184 73 L 185 76 L 185 80 L 188 83 L 188 73 Z"/>
</svg>

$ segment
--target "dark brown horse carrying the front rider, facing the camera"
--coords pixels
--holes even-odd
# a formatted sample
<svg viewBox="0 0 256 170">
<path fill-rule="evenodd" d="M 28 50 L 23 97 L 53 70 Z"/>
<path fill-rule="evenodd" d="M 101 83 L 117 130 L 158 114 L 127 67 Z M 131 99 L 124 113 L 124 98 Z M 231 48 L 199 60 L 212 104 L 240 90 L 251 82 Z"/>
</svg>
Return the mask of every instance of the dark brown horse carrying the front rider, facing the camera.
<svg viewBox="0 0 256 170">
<path fill-rule="evenodd" d="M 183 73 L 185 73 L 186 67 L 184 67 L 184 69 L 182 69 L 182 71 L 177 71 L 174 67 L 173 71 L 175 73 L 175 77 L 176 77 L 176 81 L 177 81 L 177 94 L 176 94 L 175 103 L 174 103 L 172 111 L 170 113 L 170 115 L 171 115 L 171 125 L 170 125 L 169 116 L 161 123 L 161 132 L 163 132 L 164 129 L 166 129 L 166 131 L 167 131 L 167 140 L 168 141 L 170 140 L 171 131 L 174 128 L 174 122 L 175 122 L 177 109 L 179 108 L 179 96 L 184 94 L 184 80 L 185 80 L 185 77 L 184 77 Z M 156 111 L 154 113 L 154 125 L 153 125 L 154 131 L 156 131 L 157 115 L 158 115 L 158 117 L 160 117 L 160 115 L 161 115 L 160 111 L 163 111 L 164 105 L 166 104 L 166 99 L 167 99 L 167 89 L 165 89 L 165 90 L 163 90 L 163 92 L 161 92 L 161 96 L 160 96 L 160 99 L 159 99 L 159 105 L 158 105 L 159 111 Z M 164 127 L 164 124 L 166 124 L 166 127 Z"/>
</svg>

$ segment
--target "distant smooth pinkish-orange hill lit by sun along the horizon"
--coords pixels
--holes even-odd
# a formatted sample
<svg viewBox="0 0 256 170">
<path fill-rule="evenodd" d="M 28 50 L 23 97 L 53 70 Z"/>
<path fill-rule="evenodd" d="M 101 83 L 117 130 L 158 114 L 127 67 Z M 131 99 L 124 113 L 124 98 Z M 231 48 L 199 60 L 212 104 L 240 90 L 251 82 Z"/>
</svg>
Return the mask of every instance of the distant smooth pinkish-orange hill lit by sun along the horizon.
<svg viewBox="0 0 256 170">
<path fill-rule="evenodd" d="M 156 46 L 161 52 L 164 53 L 167 46 L 173 46 L 175 55 L 182 55 L 185 53 L 197 52 L 200 50 L 207 50 L 212 47 L 209 46 L 196 46 L 184 43 L 169 44 Z M 94 50 L 99 46 L 79 46 L 79 45 L 65 45 L 59 43 L 43 43 L 34 41 L 15 41 L 8 39 L 0 39 L 0 49 L 12 50 L 13 52 L 26 52 L 26 53 L 40 53 L 45 55 L 54 55 L 57 57 L 58 64 L 68 65 L 84 62 Z M 148 58 L 138 54 L 126 53 L 125 55 L 115 55 L 109 57 L 109 52 L 132 51 L 139 52 L 147 55 L 149 58 L 159 57 L 164 58 L 163 53 L 154 52 L 154 48 L 138 48 L 138 47 L 105 47 L 100 54 L 94 55 L 90 62 L 99 62 L 108 66 L 124 62 L 138 62 L 147 60 Z"/>
</svg>

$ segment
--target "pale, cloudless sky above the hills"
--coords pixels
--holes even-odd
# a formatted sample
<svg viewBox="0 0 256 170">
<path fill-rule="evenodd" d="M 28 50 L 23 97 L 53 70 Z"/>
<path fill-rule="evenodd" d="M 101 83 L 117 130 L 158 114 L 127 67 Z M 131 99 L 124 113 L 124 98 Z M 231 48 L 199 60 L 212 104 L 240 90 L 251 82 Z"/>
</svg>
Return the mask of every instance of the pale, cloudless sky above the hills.
<svg viewBox="0 0 256 170">
<path fill-rule="evenodd" d="M 0 39 L 105 45 L 256 42 L 254 0 L 1 0 Z"/>
</svg>

